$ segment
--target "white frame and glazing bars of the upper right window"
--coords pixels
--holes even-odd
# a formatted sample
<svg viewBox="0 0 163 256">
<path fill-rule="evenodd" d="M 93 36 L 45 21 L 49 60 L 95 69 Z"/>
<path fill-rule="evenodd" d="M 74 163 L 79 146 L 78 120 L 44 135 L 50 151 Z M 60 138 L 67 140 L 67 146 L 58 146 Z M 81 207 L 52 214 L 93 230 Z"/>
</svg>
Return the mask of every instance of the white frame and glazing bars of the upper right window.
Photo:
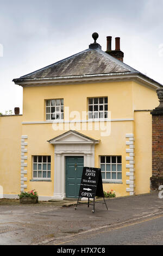
<svg viewBox="0 0 163 256">
<path fill-rule="evenodd" d="M 95 99 L 98 100 L 97 103 L 95 102 Z M 103 99 L 103 103 L 100 103 L 100 99 Z M 92 100 L 92 103 L 90 103 L 90 100 Z M 106 103 L 105 103 L 105 100 L 107 101 Z M 97 111 L 95 110 L 95 106 L 97 107 Z M 90 107 L 92 107 L 92 111 L 90 110 Z M 103 108 L 103 110 L 100 109 L 101 107 Z M 105 110 L 105 107 L 107 108 L 107 110 Z M 89 120 L 101 120 L 101 119 L 106 120 L 107 118 L 108 118 L 108 96 L 89 97 L 88 98 L 88 119 Z"/>
</svg>

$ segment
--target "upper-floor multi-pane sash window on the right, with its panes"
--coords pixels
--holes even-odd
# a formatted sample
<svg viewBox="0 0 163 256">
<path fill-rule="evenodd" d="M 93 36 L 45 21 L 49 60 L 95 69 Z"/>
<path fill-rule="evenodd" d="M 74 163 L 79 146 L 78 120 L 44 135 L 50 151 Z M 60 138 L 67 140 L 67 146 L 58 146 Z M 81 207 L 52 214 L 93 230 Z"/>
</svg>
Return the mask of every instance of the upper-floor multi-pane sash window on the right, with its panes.
<svg viewBox="0 0 163 256">
<path fill-rule="evenodd" d="M 89 119 L 108 118 L 108 97 L 89 98 Z"/>
</svg>

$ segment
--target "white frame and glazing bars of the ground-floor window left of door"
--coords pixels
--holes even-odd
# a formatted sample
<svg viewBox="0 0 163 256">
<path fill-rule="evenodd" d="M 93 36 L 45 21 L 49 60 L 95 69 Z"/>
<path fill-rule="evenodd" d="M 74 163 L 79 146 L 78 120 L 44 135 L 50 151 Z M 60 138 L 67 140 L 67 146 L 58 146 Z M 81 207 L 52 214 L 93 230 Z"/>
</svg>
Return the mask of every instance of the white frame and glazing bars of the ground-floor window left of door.
<svg viewBox="0 0 163 256">
<path fill-rule="evenodd" d="M 37 162 L 34 162 L 34 157 L 37 157 Z M 39 162 L 39 158 L 38 157 L 42 157 L 42 161 Z M 43 162 L 43 157 L 46 157 L 46 162 Z M 52 178 L 52 172 L 51 172 L 51 168 L 52 168 L 52 163 L 51 162 L 48 162 L 48 157 L 51 157 L 49 155 L 33 155 L 32 156 L 32 170 L 33 170 L 33 173 L 32 173 L 32 177 L 33 177 L 33 180 L 51 180 Z M 51 157 L 51 161 L 52 161 L 52 157 Z M 36 164 L 36 168 L 34 168 L 34 164 Z M 41 164 L 41 169 L 39 169 L 39 164 Z M 46 164 L 46 169 L 43 170 L 43 164 Z M 48 164 L 50 164 L 50 169 L 48 169 Z M 37 177 L 34 177 L 34 172 L 37 172 Z M 41 172 L 41 177 L 39 177 L 39 172 Z M 48 175 L 48 172 L 50 172 L 51 176 L 48 178 L 47 175 L 46 175 L 46 178 L 43 178 L 43 172 L 46 172 L 47 175 Z"/>
</svg>

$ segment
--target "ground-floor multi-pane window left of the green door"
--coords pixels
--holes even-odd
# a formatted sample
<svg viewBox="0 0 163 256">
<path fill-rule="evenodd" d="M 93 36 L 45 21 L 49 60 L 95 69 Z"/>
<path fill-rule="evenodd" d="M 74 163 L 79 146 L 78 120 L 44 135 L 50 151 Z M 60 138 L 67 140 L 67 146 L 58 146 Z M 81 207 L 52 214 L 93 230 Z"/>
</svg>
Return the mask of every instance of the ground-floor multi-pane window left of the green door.
<svg viewBox="0 0 163 256">
<path fill-rule="evenodd" d="M 51 178 L 51 156 L 33 156 L 33 178 Z"/>
</svg>

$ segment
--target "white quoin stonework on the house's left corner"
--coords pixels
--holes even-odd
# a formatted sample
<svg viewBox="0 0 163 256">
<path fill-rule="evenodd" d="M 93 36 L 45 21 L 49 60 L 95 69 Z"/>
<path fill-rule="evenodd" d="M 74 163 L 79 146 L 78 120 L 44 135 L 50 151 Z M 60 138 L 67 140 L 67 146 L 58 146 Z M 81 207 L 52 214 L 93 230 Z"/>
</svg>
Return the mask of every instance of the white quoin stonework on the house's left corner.
<svg viewBox="0 0 163 256">
<path fill-rule="evenodd" d="M 21 192 L 24 191 L 24 188 L 27 188 L 27 184 L 24 184 L 24 182 L 27 182 L 27 178 L 24 177 L 24 175 L 27 174 L 27 170 L 24 170 L 24 167 L 27 167 L 27 156 L 25 154 L 27 153 L 27 135 L 22 135 L 21 137 Z"/>
</svg>

